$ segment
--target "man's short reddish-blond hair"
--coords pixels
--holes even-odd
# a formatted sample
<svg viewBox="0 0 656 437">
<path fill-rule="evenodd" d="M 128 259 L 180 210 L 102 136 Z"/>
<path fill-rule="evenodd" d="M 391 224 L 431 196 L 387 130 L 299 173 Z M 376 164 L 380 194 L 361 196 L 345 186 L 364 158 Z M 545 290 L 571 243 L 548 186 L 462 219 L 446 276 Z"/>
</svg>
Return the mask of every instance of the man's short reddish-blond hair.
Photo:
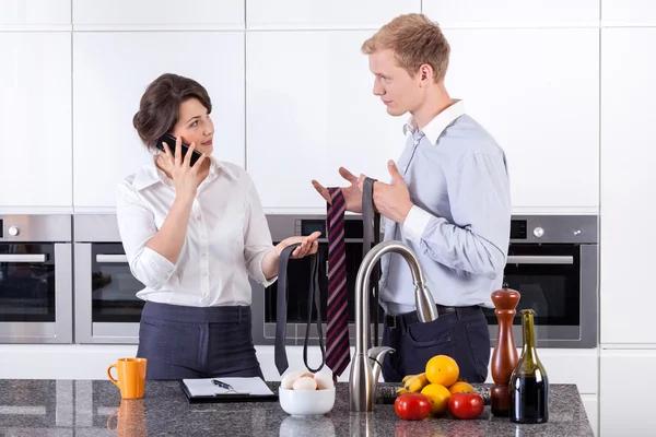
<svg viewBox="0 0 656 437">
<path fill-rule="evenodd" d="M 435 82 L 446 75 L 450 46 L 437 23 L 424 14 L 399 15 L 362 44 L 364 55 L 386 49 L 394 51 L 399 67 L 412 76 L 424 63 L 433 68 Z"/>
</svg>

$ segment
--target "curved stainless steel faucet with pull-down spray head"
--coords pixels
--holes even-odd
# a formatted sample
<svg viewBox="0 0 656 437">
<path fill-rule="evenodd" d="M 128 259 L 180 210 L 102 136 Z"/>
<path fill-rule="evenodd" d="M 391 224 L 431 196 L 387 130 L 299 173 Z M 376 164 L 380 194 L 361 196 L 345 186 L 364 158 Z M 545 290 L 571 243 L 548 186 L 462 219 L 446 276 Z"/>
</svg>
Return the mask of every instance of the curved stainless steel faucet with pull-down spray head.
<svg viewBox="0 0 656 437">
<path fill-rule="evenodd" d="M 419 320 L 429 322 L 437 319 L 437 307 L 425 286 L 423 272 L 412 250 L 406 244 L 396 240 L 383 241 L 374 246 L 362 260 L 355 279 L 355 355 L 351 361 L 349 378 L 351 411 L 355 412 L 373 410 L 383 358 L 386 353 L 395 352 L 394 349 L 386 346 L 370 349 L 372 341 L 368 315 L 370 276 L 380 257 L 389 252 L 400 253 L 410 265 Z"/>
</svg>

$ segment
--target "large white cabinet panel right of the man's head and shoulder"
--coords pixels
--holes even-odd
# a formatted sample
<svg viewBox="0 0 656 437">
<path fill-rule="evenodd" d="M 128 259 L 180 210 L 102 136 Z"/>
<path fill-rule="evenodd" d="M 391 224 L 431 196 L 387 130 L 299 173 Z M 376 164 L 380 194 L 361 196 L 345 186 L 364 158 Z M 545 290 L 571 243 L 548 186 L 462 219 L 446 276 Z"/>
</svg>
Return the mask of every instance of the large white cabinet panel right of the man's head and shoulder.
<svg viewBox="0 0 656 437">
<path fill-rule="evenodd" d="M 513 206 L 598 206 L 599 31 L 445 34 L 447 88 L 505 150 Z"/>
</svg>

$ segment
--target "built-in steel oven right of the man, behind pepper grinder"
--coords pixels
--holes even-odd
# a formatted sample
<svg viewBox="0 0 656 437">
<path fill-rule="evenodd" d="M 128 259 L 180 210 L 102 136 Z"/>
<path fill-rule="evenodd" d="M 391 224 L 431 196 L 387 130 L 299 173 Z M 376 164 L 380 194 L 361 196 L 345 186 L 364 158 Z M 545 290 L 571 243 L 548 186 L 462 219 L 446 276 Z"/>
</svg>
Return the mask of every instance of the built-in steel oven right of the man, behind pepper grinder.
<svg viewBox="0 0 656 437">
<path fill-rule="evenodd" d="M 539 347 L 596 347 L 598 344 L 597 215 L 513 216 L 504 282 L 522 294 L 517 311 L 535 310 Z M 485 309 L 491 336 L 494 309 Z M 519 317 L 513 333 L 522 344 Z"/>
</svg>

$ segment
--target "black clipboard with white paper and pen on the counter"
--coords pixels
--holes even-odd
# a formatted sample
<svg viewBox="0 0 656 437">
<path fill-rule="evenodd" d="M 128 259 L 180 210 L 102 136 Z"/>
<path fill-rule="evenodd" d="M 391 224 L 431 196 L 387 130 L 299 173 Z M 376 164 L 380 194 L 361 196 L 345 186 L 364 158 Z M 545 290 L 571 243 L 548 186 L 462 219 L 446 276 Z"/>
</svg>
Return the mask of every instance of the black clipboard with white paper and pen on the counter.
<svg viewBox="0 0 656 437">
<path fill-rule="evenodd" d="M 232 386 L 226 389 L 212 381 L 216 379 Z M 278 395 L 259 377 L 251 378 L 200 378 L 180 381 L 187 400 L 192 402 L 260 402 L 276 401 Z"/>
</svg>

